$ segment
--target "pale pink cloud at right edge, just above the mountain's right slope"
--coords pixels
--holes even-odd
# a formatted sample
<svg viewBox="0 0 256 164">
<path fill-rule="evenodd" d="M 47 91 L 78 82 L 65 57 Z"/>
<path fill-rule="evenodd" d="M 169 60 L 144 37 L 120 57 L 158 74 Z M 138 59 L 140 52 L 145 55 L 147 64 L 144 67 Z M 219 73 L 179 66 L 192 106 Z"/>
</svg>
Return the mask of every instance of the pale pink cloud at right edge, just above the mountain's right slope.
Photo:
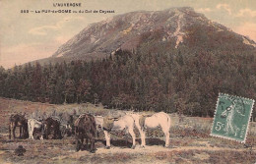
<svg viewBox="0 0 256 164">
<path fill-rule="evenodd" d="M 245 23 L 239 27 L 233 29 L 235 32 L 240 33 L 256 41 L 256 24 L 254 23 Z"/>
</svg>

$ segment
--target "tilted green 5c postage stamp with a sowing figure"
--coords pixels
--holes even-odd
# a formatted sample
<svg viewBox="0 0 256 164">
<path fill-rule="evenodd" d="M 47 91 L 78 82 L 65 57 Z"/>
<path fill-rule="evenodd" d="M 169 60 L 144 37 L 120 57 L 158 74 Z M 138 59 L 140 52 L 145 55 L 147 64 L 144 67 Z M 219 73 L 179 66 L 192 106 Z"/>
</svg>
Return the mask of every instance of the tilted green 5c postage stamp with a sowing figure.
<svg viewBox="0 0 256 164">
<path fill-rule="evenodd" d="M 211 136 L 245 142 L 253 104 L 252 99 L 219 93 Z"/>
</svg>

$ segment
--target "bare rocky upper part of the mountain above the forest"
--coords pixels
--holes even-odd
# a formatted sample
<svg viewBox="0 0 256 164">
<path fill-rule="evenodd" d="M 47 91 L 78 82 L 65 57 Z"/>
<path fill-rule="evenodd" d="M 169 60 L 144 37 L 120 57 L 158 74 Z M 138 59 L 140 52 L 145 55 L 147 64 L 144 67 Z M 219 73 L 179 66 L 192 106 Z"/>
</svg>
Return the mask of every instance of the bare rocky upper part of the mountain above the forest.
<svg viewBox="0 0 256 164">
<path fill-rule="evenodd" d="M 256 43 L 196 13 L 193 8 L 131 12 L 85 27 L 47 61 L 91 60 L 118 49 L 149 52 L 188 49 L 255 50 Z"/>
</svg>

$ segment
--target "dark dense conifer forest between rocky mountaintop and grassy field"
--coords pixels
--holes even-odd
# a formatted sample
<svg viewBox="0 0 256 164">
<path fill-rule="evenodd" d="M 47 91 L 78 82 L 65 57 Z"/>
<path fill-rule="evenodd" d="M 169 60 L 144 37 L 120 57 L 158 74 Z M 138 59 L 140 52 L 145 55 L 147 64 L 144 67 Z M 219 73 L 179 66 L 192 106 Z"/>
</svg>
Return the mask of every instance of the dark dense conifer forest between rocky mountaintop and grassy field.
<svg viewBox="0 0 256 164">
<path fill-rule="evenodd" d="M 219 92 L 256 97 L 255 73 L 253 52 L 119 50 L 91 62 L 1 67 L 0 96 L 213 117 Z"/>
</svg>

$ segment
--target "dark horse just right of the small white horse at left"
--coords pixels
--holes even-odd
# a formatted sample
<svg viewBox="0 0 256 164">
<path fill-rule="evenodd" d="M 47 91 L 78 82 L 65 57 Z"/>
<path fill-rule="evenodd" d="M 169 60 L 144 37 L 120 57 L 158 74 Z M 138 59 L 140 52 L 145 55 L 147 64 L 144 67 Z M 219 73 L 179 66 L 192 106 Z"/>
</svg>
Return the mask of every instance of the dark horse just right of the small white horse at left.
<svg viewBox="0 0 256 164">
<path fill-rule="evenodd" d="M 60 122 L 49 117 L 42 121 L 43 138 L 48 139 L 50 132 L 53 131 L 53 138 L 62 138 L 60 132 Z"/>
</svg>

